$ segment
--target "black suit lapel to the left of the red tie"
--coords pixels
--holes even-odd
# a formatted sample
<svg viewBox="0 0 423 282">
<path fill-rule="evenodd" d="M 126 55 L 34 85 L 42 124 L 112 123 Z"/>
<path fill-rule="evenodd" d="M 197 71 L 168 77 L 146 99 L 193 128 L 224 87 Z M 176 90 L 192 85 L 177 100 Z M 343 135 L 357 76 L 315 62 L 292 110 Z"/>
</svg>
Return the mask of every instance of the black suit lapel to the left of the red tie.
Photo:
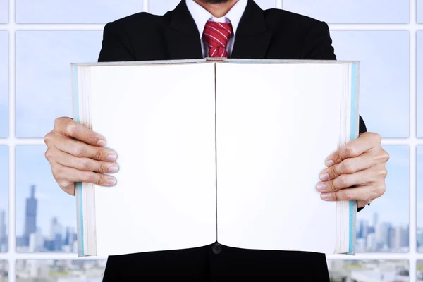
<svg viewBox="0 0 423 282">
<path fill-rule="evenodd" d="M 201 39 L 197 25 L 185 0 L 180 1 L 172 12 L 170 24 L 164 32 L 169 59 L 201 59 Z"/>
</svg>

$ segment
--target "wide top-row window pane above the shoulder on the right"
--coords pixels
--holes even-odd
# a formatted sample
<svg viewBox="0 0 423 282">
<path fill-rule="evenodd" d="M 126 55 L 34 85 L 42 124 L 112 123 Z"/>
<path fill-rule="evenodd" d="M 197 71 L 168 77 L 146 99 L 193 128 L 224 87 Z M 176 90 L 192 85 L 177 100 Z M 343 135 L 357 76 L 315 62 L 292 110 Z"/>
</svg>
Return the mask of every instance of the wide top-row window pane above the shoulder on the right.
<svg viewBox="0 0 423 282">
<path fill-rule="evenodd" d="M 326 23 L 408 23 L 404 0 L 284 0 L 288 11 L 324 20 Z"/>
</svg>

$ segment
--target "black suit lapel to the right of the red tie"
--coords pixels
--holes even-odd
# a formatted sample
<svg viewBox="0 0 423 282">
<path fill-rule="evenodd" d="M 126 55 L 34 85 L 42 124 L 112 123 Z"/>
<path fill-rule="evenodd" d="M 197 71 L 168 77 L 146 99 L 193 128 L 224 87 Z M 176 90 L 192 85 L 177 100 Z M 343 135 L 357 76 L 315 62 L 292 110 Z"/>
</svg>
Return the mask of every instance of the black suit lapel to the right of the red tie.
<svg viewBox="0 0 423 282">
<path fill-rule="evenodd" d="M 271 36 L 271 30 L 266 27 L 264 12 L 255 1 L 248 0 L 236 30 L 231 58 L 264 59 Z"/>
</svg>

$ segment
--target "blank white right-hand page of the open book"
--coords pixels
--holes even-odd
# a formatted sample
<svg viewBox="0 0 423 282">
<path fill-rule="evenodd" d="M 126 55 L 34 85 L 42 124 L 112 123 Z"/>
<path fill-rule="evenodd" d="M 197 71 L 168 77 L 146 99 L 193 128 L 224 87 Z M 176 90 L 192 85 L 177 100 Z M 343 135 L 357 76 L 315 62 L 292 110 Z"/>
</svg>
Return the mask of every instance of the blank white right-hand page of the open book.
<svg viewBox="0 0 423 282">
<path fill-rule="evenodd" d="M 216 64 L 218 240 L 333 253 L 336 203 L 316 190 L 339 142 L 341 64 Z"/>
</svg>

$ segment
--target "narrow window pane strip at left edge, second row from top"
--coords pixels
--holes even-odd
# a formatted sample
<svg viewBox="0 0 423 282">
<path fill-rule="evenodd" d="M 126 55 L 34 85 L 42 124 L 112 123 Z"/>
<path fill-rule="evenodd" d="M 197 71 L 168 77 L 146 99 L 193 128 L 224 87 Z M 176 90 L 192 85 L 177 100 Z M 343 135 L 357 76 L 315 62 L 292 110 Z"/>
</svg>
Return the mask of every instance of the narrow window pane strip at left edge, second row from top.
<svg viewBox="0 0 423 282">
<path fill-rule="evenodd" d="M 8 32 L 0 31 L 0 138 L 8 137 Z"/>
</svg>

